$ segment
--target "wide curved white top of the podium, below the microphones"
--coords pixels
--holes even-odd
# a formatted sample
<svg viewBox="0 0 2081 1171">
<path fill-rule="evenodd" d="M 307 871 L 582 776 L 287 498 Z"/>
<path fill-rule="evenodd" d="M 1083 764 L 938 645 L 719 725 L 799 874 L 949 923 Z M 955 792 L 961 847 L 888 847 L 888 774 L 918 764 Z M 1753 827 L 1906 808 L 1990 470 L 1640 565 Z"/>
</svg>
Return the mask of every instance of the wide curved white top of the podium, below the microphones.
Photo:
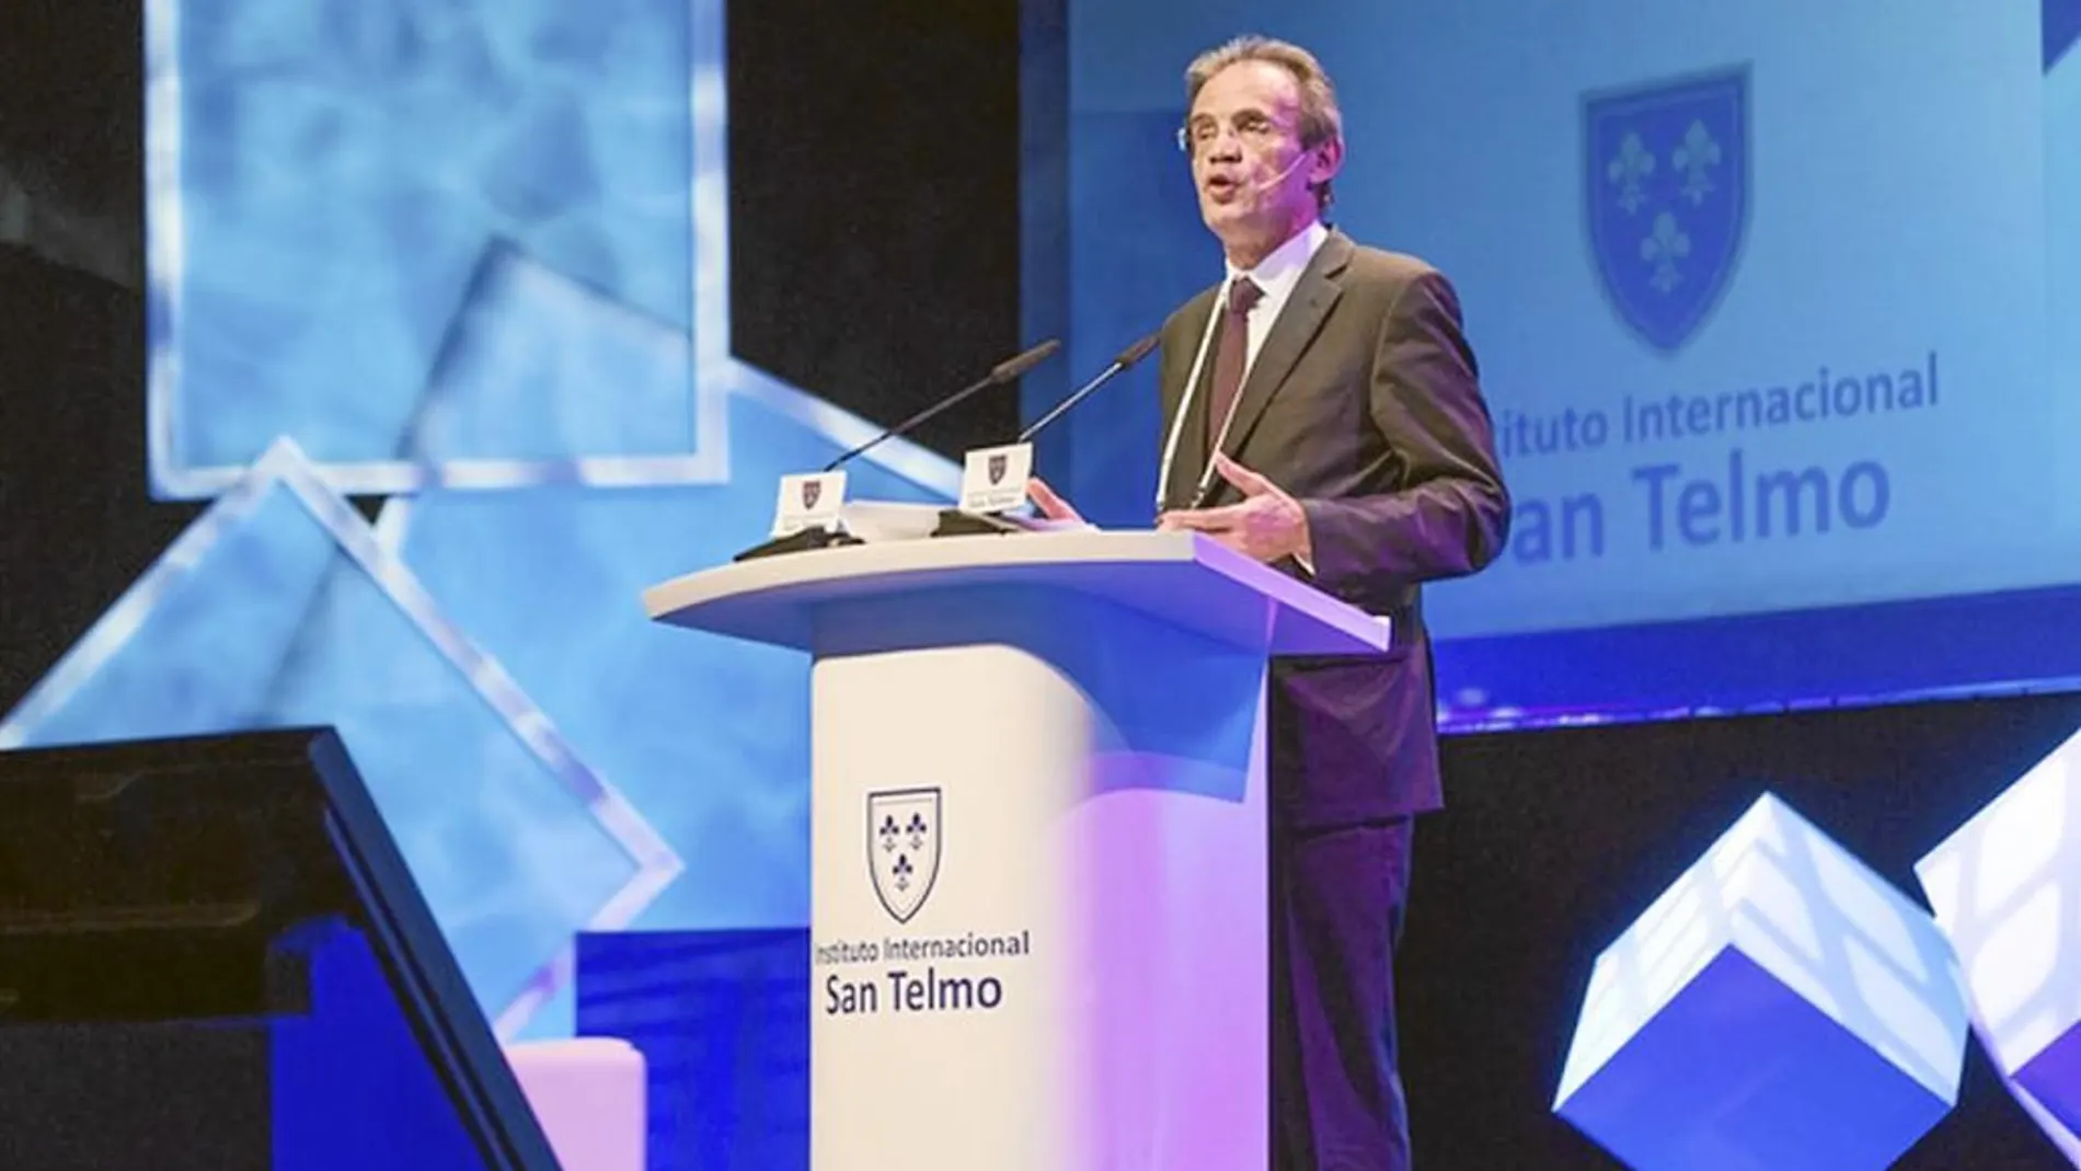
<svg viewBox="0 0 2081 1171">
<path fill-rule="evenodd" d="M 814 651 L 816 609 L 961 587 L 1051 587 L 1267 655 L 1369 655 L 1390 645 L 1365 614 L 1197 532 L 1018 532 L 782 553 L 643 591 L 651 620 Z"/>
</svg>

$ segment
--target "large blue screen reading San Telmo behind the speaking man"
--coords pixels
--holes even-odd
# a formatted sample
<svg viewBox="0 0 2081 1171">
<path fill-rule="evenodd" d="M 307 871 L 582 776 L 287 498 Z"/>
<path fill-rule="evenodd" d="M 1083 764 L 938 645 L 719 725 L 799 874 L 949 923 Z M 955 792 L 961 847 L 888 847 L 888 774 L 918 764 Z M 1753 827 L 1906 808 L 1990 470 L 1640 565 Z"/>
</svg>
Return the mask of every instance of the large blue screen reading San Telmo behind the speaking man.
<svg viewBox="0 0 2081 1171">
<path fill-rule="evenodd" d="M 1902 655 L 1960 620 L 1944 605 L 1825 663 L 1727 661 L 1788 639 L 1769 624 L 1692 643 L 1717 620 L 2077 580 L 2073 2 L 1063 2 L 1061 52 L 1028 56 L 1065 62 L 1072 368 L 1219 279 L 1172 135 L 1186 62 L 1242 31 L 1313 48 L 1340 83 L 1336 225 L 1455 281 L 1517 508 L 1500 564 L 1434 591 L 1465 643 L 1448 701 L 1738 705 L 2077 670 L 2031 628 Z M 1034 173 L 1045 191 L 1053 168 Z M 1057 441 L 1115 524 L 1153 497 L 1138 374 Z M 1692 626 L 1584 634 L 1644 624 Z M 1669 678 L 1677 647 L 1702 661 Z"/>
</svg>

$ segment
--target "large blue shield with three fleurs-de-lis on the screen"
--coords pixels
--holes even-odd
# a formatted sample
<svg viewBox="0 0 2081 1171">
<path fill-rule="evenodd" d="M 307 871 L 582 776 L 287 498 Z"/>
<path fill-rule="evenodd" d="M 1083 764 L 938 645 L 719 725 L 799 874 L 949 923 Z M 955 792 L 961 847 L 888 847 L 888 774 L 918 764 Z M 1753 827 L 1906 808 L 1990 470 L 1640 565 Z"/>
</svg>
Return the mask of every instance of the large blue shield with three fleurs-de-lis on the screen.
<svg viewBox="0 0 2081 1171">
<path fill-rule="evenodd" d="M 1748 227 L 1748 67 L 1584 100 L 1590 250 L 1619 318 L 1681 349 L 1713 316 Z"/>
</svg>

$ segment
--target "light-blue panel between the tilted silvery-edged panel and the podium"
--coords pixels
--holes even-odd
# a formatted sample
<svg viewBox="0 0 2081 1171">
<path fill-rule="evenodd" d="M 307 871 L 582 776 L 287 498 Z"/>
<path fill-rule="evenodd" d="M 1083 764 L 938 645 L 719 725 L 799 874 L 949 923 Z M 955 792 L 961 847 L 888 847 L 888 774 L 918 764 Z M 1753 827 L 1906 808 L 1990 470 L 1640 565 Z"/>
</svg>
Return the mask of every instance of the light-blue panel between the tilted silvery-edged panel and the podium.
<svg viewBox="0 0 2081 1171">
<path fill-rule="evenodd" d="M 755 543 L 785 472 L 843 447 L 749 395 L 730 399 L 733 480 L 714 489 L 427 491 L 381 518 L 439 605 L 556 713 L 685 863 L 631 926 L 793 928 L 810 919 L 810 672 L 801 655 L 658 626 L 641 591 Z M 945 499 L 878 466 L 849 495 Z M 545 1027 L 570 1017 L 551 1005 Z"/>
</svg>

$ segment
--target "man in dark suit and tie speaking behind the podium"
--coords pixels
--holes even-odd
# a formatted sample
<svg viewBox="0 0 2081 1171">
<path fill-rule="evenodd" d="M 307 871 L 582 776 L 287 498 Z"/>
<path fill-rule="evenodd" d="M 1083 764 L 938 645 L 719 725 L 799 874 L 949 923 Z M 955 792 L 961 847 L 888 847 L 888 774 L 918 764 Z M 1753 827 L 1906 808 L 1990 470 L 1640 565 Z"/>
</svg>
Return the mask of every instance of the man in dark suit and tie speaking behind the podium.
<svg viewBox="0 0 2081 1171">
<path fill-rule="evenodd" d="M 1401 1171 L 1394 946 L 1413 817 L 1442 805 L 1419 587 L 1496 557 L 1509 493 L 1450 283 L 1324 225 L 1344 137 L 1317 60 L 1242 37 L 1192 62 L 1186 98 L 1228 277 L 1163 324 L 1157 524 L 1394 628 L 1380 659 L 1271 666 L 1274 1163 Z"/>
</svg>

